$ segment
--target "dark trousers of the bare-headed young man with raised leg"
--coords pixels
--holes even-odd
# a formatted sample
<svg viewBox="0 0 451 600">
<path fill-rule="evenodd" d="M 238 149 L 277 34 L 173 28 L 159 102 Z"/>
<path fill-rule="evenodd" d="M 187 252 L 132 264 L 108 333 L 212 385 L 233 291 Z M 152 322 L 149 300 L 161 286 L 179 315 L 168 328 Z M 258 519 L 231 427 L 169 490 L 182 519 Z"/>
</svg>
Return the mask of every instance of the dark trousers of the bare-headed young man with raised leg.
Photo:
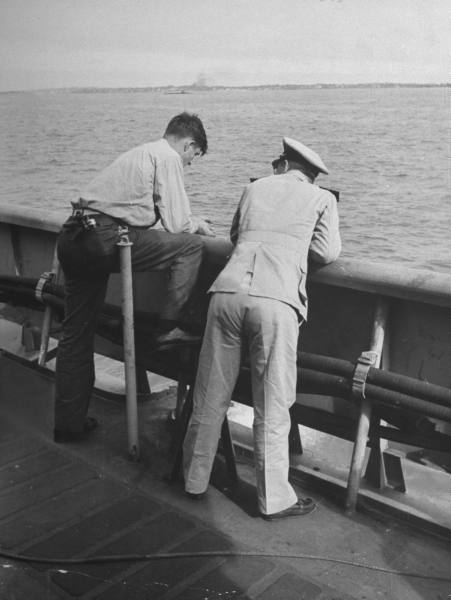
<svg viewBox="0 0 451 600">
<path fill-rule="evenodd" d="M 97 227 L 58 237 L 65 276 L 65 319 L 56 360 L 55 429 L 83 430 L 94 385 L 94 336 L 110 273 L 119 271 L 118 223 L 95 217 Z M 175 322 L 197 281 L 204 244 L 198 235 L 129 227 L 134 271 L 170 269 L 160 315 Z"/>
</svg>

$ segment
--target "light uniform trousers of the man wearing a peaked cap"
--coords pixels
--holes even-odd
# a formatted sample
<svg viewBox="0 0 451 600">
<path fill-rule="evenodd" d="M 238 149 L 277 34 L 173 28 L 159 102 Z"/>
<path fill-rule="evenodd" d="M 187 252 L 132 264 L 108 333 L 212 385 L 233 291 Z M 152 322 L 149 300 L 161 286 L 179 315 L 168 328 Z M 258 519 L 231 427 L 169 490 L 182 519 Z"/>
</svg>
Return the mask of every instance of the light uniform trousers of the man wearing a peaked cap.
<svg viewBox="0 0 451 600">
<path fill-rule="evenodd" d="M 213 294 L 194 388 L 194 408 L 184 442 L 187 492 L 208 487 L 221 426 L 249 349 L 254 405 L 254 456 L 259 510 L 271 514 L 297 501 L 288 482 L 289 408 L 296 400 L 295 310 L 246 292 Z"/>
</svg>

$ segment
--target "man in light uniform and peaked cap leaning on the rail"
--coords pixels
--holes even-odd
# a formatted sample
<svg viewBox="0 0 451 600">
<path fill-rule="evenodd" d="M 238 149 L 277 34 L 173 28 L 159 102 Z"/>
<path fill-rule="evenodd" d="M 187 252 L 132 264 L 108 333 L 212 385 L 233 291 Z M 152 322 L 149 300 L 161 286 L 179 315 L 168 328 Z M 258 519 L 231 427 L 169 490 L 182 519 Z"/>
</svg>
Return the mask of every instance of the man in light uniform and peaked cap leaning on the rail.
<svg viewBox="0 0 451 600">
<path fill-rule="evenodd" d="M 235 249 L 210 288 L 212 298 L 184 443 L 185 490 L 208 487 L 221 425 L 243 350 L 249 352 L 257 498 L 268 519 L 315 508 L 288 481 L 290 406 L 296 400 L 299 326 L 307 318 L 308 258 L 327 264 L 341 250 L 337 202 L 314 185 L 328 173 L 303 144 L 283 139 L 275 174 L 246 186 L 233 219 Z"/>
</svg>

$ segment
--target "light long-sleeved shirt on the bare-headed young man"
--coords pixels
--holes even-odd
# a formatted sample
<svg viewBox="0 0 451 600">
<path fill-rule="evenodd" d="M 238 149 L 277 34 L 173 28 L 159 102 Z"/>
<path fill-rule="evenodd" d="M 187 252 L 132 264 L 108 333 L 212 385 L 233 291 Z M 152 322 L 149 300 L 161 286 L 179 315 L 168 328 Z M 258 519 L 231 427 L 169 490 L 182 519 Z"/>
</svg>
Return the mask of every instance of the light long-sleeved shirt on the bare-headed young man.
<svg viewBox="0 0 451 600">
<path fill-rule="evenodd" d="M 88 207 L 135 227 L 194 233 L 183 162 L 164 138 L 121 154 L 82 191 Z"/>
</svg>

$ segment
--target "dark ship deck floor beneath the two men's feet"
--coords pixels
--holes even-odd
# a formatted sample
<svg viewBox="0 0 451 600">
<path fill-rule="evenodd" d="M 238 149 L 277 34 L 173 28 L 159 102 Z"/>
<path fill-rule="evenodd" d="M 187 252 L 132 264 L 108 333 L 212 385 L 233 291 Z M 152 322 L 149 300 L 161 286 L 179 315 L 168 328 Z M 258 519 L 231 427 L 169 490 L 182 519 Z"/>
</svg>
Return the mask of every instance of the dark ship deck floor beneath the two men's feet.
<svg viewBox="0 0 451 600">
<path fill-rule="evenodd" d="M 127 458 L 121 402 L 97 395 L 92 414 L 100 429 L 85 443 L 56 445 L 49 373 L 11 377 L 2 370 L 0 393 L 2 600 L 438 600 L 451 594 L 446 540 L 386 516 L 348 518 L 333 495 L 317 488 L 308 490 L 317 511 L 267 523 L 258 517 L 253 471 L 244 459 L 237 489 L 228 487 L 218 459 L 207 499 L 186 498 L 181 483 L 167 479 L 171 390 L 140 404 L 139 463 Z M 18 561 L 5 553 L 61 562 Z M 152 553 L 193 555 L 63 561 Z"/>
</svg>

